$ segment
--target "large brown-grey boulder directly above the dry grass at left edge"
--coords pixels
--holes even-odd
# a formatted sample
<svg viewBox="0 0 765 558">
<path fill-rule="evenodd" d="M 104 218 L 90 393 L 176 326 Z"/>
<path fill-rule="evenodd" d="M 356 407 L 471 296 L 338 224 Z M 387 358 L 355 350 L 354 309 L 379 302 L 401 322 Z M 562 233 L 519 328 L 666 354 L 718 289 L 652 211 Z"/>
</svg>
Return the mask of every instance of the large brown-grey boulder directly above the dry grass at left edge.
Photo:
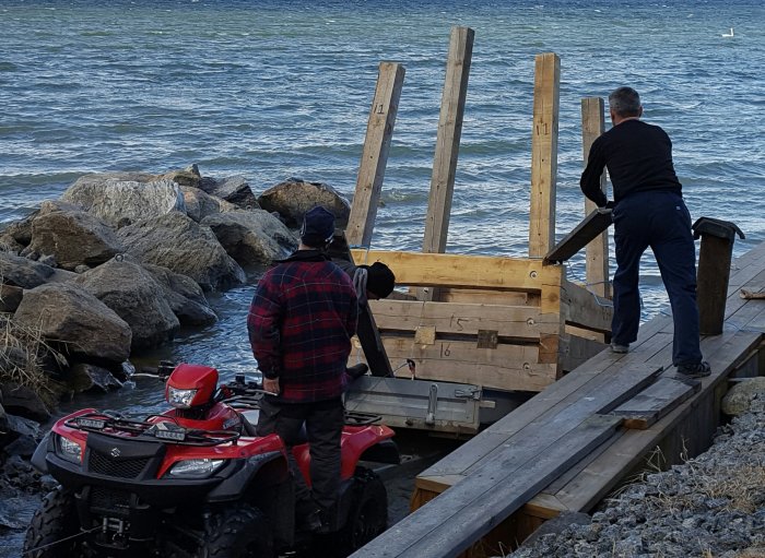
<svg viewBox="0 0 765 558">
<path fill-rule="evenodd" d="M 130 325 L 85 289 L 68 283 L 25 292 L 13 321 L 83 361 L 119 364 L 130 355 Z"/>
</svg>

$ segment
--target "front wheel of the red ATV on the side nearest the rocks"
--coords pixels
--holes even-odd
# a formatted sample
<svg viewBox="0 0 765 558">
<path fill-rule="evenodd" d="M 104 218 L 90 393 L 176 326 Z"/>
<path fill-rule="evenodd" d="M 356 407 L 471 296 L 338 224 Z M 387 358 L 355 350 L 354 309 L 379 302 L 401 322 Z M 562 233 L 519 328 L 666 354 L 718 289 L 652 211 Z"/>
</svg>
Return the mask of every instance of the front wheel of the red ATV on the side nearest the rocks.
<svg viewBox="0 0 765 558">
<path fill-rule="evenodd" d="M 91 556 L 80 534 L 74 497 L 58 487 L 43 499 L 32 517 L 24 537 L 22 555 L 28 558 L 69 558 Z"/>
</svg>

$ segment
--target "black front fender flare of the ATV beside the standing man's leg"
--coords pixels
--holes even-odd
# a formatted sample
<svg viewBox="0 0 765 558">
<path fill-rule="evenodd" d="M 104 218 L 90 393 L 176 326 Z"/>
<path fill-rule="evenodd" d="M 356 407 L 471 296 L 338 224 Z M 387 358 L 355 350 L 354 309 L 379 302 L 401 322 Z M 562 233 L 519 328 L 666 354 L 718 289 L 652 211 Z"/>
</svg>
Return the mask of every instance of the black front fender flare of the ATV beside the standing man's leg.
<svg viewBox="0 0 765 558">
<path fill-rule="evenodd" d="M 248 458 L 244 466 L 208 494 L 211 503 L 240 500 L 254 484 L 258 490 L 290 479 L 284 453 L 270 451 Z"/>
</svg>

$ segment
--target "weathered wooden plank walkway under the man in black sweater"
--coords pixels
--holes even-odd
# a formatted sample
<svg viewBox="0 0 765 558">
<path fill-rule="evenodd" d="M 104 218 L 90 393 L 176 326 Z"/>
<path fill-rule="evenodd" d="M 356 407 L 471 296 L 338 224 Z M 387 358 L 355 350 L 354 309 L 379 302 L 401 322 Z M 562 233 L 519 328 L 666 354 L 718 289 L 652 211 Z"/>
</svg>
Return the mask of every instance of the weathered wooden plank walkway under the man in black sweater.
<svg viewBox="0 0 765 558">
<path fill-rule="evenodd" d="M 628 354 L 590 358 L 423 472 L 414 511 L 353 556 L 507 554 L 545 520 L 590 511 L 651 458 L 666 466 L 704 451 L 727 377 L 762 368 L 765 300 L 742 289 L 765 289 L 765 244 L 734 263 L 723 332 L 702 340 L 710 377 L 678 379 L 672 320 L 651 320 Z"/>
</svg>

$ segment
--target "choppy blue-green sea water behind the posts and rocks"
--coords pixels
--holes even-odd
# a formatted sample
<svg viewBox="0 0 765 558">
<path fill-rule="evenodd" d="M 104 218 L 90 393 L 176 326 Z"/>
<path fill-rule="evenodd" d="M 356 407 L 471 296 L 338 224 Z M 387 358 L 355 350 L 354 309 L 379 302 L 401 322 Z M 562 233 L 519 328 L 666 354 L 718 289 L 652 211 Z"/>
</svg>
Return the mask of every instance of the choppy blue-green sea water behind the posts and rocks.
<svg viewBox="0 0 765 558">
<path fill-rule="evenodd" d="M 407 75 L 372 246 L 419 250 L 449 33 L 463 25 L 475 41 L 449 252 L 527 253 L 534 56 L 548 51 L 561 57 L 558 237 L 584 215 L 580 99 L 628 84 L 673 140 L 693 217 L 735 222 L 737 256 L 765 239 L 758 0 L 0 0 L 0 223 L 85 173 L 191 163 L 244 175 L 256 194 L 296 176 L 351 198 L 378 64 L 397 61 Z M 667 298 L 644 262 L 648 319 Z M 580 257 L 569 276 L 584 280 Z M 215 295 L 221 322 L 149 357 L 250 369 L 250 295 Z"/>
</svg>

